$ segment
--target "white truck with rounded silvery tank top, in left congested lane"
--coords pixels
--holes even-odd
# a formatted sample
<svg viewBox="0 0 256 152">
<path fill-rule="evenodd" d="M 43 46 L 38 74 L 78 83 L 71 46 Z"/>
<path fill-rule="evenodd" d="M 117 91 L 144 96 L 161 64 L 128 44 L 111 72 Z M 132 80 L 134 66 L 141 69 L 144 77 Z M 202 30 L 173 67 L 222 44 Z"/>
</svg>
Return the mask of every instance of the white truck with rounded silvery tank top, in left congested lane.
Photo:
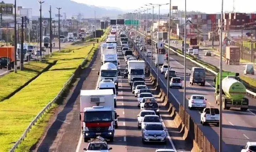
<svg viewBox="0 0 256 152">
<path fill-rule="evenodd" d="M 117 71 L 116 65 L 111 62 L 104 63 L 101 66 L 100 71 L 98 71 L 98 75 L 100 76 L 100 81 L 108 79 L 112 80 L 118 90 L 118 76 L 121 75 L 121 72 Z"/>
</svg>

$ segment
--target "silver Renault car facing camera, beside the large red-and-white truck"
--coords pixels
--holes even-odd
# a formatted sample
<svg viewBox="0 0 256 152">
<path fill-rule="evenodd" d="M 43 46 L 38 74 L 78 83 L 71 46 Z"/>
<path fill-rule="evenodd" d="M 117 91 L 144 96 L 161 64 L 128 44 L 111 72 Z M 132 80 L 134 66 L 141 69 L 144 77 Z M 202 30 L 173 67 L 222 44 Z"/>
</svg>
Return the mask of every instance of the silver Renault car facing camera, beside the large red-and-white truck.
<svg viewBox="0 0 256 152">
<path fill-rule="evenodd" d="M 159 122 L 150 122 L 142 129 L 142 142 L 164 142 L 166 144 L 167 129 Z"/>
</svg>

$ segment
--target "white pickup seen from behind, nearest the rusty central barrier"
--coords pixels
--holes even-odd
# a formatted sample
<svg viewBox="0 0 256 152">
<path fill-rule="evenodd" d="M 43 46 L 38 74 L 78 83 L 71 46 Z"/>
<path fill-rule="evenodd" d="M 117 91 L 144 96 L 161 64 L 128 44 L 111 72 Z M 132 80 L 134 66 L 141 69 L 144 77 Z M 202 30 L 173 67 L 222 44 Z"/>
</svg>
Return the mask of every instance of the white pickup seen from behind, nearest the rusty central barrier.
<svg viewBox="0 0 256 152">
<path fill-rule="evenodd" d="M 204 110 L 201 111 L 200 122 L 203 125 L 206 123 L 216 123 L 219 125 L 219 109 L 213 106 L 204 108 Z"/>
</svg>

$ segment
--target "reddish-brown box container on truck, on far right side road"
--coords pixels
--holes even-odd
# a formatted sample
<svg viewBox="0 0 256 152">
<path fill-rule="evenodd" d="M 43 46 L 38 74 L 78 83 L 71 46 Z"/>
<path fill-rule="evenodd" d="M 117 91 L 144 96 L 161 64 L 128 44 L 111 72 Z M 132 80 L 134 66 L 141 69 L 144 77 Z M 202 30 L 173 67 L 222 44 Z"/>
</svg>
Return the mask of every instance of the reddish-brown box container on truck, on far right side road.
<svg viewBox="0 0 256 152">
<path fill-rule="evenodd" d="M 240 62 L 240 48 L 236 46 L 226 46 L 226 64 Z"/>
</svg>

